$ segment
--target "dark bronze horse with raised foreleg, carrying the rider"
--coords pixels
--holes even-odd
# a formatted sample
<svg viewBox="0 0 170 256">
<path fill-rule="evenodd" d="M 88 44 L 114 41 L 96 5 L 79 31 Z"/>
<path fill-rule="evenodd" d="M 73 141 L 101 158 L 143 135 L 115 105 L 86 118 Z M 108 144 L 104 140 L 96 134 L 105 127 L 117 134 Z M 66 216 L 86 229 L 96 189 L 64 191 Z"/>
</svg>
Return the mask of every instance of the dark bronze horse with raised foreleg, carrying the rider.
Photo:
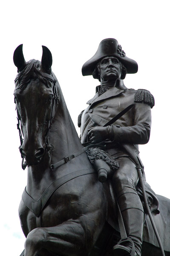
<svg viewBox="0 0 170 256">
<path fill-rule="evenodd" d="M 35 60 L 26 63 L 21 45 L 14 52 L 14 64 L 18 67 L 14 96 L 24 137 L 20 153 L 28 164 L 25 194 L 34 200 L 31 208 L 23 199 L 19 207 L 20 223 L 26 236 L 24 255 L 107 255 L 107 250 L 93 253 L 92 247 L 100 238 L 106 220 L 110 219 L 110 225 L 119 231 L 115 221 L 116 210 L 107 212 L 109 200 L 106 189 L 98 181 L 86 153 L 79 154 L 68 163 L 66 160 L 56 169 L 50 168 L 51 163 L 58 163 L 83 148 L 61 88 L 51 71 L 51 53 L 43 47 L 41 63 Z M 70 173 L 81 175 L 68 178 Z M 63 181 L 37 211 L 35 205 L 58 180 Z M 106 233 L 109 232 L 110 228 Z M 149 241 L 148 237 L 145 241 Z M 150 239 L 149 242 L 152 241 Z M 146 251 L 142 255 L 151 256 Z"/>
</svg>

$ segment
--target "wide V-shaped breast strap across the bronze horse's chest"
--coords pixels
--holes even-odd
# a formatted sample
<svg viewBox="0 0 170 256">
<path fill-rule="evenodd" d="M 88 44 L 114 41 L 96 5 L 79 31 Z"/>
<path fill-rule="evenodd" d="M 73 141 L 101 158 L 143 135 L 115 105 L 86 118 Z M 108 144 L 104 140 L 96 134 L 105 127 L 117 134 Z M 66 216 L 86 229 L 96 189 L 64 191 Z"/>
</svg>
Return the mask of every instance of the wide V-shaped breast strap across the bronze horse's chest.
<svg viewBox="0 0 170 256">
<path fill-rule="evenodd" d="M 69 173 L 67 175 L 64 175 L 63 177 L 59 178 L 58 180 L 55 180 L 49 187 L 43 192 L 43 195 L 36 201 L 34 200 L 27 192 L 26 189 L 23 191 L 22 200 L 24 204 L 32 211 L 34 212 L 35 216 L 39 217 L 43 207 L 46 205 L 46 202 L 49 200 L 49 198 L 52 196 L 52 194 L 55 192 L 56 189 L 58 189 L 60 186 L 62 186 L 64 183 L 66 183 L 69 180 L 72 180 L 76 177 L 92 174 L 95 173 L 94 169 L 88 169 L 88 170 L 81 170 Z"/>
</svg>

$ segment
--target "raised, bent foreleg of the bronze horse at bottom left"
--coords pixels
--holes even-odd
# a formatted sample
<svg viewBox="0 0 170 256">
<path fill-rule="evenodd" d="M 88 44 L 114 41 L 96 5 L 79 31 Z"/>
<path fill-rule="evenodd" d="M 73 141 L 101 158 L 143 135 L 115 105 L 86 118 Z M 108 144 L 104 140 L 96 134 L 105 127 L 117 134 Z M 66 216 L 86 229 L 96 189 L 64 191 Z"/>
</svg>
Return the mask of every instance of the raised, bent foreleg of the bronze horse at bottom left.
<svg viewBox="0 0 170 256">
<path fill-rule="evenodd" d="M 94 230 L 78 221 L 66 221 L 56 227 L 35 228 L 25 242 L 25 256 L 44 255 L 43 249 L 64 256 L 86 256 L 92 247 Z"/>
</svg>

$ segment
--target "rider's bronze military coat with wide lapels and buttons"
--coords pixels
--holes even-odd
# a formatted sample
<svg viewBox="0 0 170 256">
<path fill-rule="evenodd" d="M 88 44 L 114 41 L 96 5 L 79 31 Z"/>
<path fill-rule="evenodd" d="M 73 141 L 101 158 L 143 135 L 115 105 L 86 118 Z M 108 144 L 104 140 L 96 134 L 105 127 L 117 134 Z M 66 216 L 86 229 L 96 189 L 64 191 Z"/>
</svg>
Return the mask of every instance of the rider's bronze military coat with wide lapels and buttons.
<svg viewBox="0 0 170 256">
<path fill-rule="evenodd" d="M 127 89 L 121 79 L 117 79 L 115 86 L 101 95 L 99 90 L 100 86 L 97 87 L 95 96 L 87 102 L 89 106 L 82 114 L 81 143 L 87 141 L 88 129 L 104 126 L 131 104 L 134 104 L 133 107 L 112 124 L 114 137 L 110 143 L 130 143 L 135 148 L 138 148 L 138 144 L 147 143 L 150 138 L 151 107 L 154 101 L 150 92 Z"/>
</svg>

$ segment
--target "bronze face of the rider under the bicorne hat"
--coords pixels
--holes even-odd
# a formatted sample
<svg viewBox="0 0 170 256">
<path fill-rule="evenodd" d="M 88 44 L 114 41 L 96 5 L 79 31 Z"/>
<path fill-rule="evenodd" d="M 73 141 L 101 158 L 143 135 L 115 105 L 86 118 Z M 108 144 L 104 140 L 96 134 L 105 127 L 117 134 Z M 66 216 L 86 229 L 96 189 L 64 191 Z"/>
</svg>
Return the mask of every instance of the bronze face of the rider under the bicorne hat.
<svg viewBox="0 0 170 256">
<path fill-rule="evenodd" d="M 99 64 L 101 81 L 115 81 L 121 78 L 121 64 L 115 57 L 104 57 Z"/>
</svg>

